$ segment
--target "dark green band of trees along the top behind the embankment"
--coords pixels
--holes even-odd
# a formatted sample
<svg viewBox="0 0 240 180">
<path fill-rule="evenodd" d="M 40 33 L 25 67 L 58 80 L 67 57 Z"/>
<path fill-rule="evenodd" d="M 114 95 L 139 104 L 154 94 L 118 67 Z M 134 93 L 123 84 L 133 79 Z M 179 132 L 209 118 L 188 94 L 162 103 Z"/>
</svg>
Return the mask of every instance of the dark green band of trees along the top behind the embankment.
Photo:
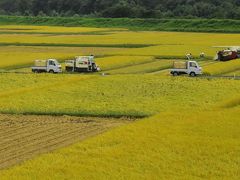
<svg viewBox="0 0 240 180">
<path fill-rule="evenodd" d="M 0 0 L 0 14 L 239 19 L 240 0 Z"/>
</svg>

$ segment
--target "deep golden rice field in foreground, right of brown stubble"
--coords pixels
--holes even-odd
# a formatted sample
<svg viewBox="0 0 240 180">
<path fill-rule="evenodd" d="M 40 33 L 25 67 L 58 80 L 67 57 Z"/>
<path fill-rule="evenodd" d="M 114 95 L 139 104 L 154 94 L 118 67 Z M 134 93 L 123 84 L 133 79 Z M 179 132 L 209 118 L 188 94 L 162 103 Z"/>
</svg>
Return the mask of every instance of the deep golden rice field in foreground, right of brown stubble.
<svg viewBox="0 0 240 180">
<path fill-rule="evenodd" d="M 239 110 L 158 116 L 0 172 L 2 179 L 239 179 Z"/>
</svg>

